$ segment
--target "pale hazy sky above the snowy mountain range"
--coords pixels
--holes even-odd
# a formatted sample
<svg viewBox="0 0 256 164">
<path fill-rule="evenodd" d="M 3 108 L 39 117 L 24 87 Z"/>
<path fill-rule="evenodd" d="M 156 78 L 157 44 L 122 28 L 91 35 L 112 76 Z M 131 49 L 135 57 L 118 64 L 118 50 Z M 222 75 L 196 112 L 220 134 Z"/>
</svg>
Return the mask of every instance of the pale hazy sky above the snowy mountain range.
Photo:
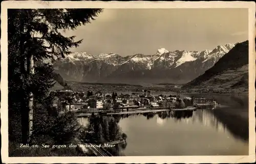
<svg viewBox="0 0 256 164">
<path fill-rule="evenodd" d="M 201 51 L 248 40 L 248 9 L 104 9 L 91 23 L 64 35 L 83 39 L 72 51 L 93 55 Z"/>
</svg>

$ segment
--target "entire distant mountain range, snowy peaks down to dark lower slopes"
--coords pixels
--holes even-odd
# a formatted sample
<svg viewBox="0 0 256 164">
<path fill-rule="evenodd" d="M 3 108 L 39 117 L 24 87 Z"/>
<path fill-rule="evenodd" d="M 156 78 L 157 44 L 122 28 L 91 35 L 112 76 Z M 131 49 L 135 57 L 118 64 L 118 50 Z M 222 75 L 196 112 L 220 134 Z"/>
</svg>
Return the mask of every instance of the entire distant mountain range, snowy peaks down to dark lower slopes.
<svg viewBox="0 0 256 164">
<path fill-rule="evenodd" d="M 214 66 L 234 46 L 219 45 L 203 51 L 161 48 L 153 55 L 139 53 L 126 57 L 116 53 L 73 52 L 58 60 L 54 69 L 65 80 L 80 82 L 185 84 Z"/>
</svg>

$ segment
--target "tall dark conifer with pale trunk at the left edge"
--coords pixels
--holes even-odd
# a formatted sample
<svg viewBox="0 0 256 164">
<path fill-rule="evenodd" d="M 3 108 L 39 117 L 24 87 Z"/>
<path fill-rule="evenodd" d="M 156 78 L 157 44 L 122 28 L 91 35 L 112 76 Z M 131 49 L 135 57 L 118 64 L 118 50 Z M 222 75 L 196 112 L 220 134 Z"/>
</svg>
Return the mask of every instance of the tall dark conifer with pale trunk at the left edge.
<svg viewBox="0 0 256 164">
<path fill-rule="evenodd" d="M 36 78 L 36 67 L 42 61 L 69 54 L 82 40 L 75 36 L 65 37 L 59 31 L 74 30 L 77 26 L 90 23 L 101 9 L 9 9 L 8 10 L 8 80 L 17 83 L 15 99 L 22 118 L 23 143 L 31 142 L 33 132 L 33 110 L 35 107 L 35 85 L 42 78 Z M 38 83 L 37 83 L 38 82 Z M 33 87 L 34 86 L 34 87 Z M 14 86 L 12 86 L 14 87 Z M 49 86 L 44 87 L 49 90 Z M 16 106 L 15 106 L 16 107 Z M 14 108 L 12 108 L 14 110 Z"/>
</svg>

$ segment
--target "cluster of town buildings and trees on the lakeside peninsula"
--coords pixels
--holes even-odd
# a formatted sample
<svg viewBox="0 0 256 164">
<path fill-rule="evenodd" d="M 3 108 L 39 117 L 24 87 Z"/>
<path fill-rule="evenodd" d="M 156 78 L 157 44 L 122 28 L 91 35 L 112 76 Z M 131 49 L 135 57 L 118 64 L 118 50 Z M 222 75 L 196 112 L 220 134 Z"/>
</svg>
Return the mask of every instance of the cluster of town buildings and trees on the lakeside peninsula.
<svg viewBox="0 0 256 164">
<path fill-rule="evenodd" d="M 77 108 L 119 108 L 129 106 L 139 107 L 174 107 L 177 104 L 184 103 L 184 106 L 193 104 L 191 98 L 180 99 L 179 95 L 170 95 L 168 97 L 159 95 L 153 96 L 150 91 L 142 93 L 119 94 L 102 92 L 74 92 L 71 90 L 60 90 L 51 92 L 54 95 L 54 105 L 61 110 L 72 111 Z"/>
</svg>

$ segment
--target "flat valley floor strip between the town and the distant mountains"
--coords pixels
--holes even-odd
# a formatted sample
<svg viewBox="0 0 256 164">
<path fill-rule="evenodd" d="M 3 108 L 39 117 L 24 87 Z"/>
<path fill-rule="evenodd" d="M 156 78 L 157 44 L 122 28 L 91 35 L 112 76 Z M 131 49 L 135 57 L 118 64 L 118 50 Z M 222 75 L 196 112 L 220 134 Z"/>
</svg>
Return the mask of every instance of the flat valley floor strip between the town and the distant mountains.
<svg viewBox="0 0 256 164">
<path fill-rule="evenodd" d="M 156 84 L 143 84 L 143 85 L 129 85 L 129 84 L 104 84 L 104 83 L 78 83 L 78 82 L 71 82 L 67 81 L 67 84 L 72 88 L 75 92 L 87 92 L 87 91 L 94 91 L 94 92 L 103 92 L 103 93 L 123 93 L 123 94 L 133 94 L 133 93 L 141 93 L 143 90 L 151 91 L 154 95 L 161 95 L 161 94 L 194 94 L 194 93 L 204 93 L 204 94 L 248 94 L 248 90 L 223 90 L 222 88 L 218 89 L 205 89 L 204 87 L 201 88 L 193 88 L 193 89 L 184 89 L 181 88 L 181 85 L 156 85 Z M 52 90 L 61 90 L 61 86 L 57 83 L 52 88 Z"/>
</svg>

